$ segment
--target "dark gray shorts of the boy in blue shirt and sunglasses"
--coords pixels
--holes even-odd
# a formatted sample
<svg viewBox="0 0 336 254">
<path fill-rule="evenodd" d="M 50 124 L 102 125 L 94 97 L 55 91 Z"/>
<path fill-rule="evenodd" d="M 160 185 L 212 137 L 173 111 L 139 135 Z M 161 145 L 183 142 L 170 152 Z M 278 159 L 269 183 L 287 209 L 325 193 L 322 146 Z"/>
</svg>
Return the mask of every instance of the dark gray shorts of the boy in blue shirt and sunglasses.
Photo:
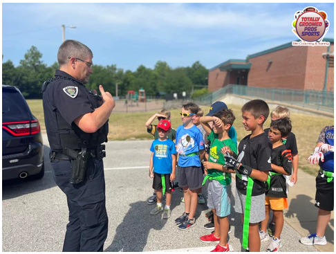
<svg viewBox="0 0 336 254">
<path fill-rule="evenodd" d="M 202 187 L 203 173 L 200 167 L 179 167 L 178 186 L 188 187 L 189 190 L 197 190 Z"/>
</svg>

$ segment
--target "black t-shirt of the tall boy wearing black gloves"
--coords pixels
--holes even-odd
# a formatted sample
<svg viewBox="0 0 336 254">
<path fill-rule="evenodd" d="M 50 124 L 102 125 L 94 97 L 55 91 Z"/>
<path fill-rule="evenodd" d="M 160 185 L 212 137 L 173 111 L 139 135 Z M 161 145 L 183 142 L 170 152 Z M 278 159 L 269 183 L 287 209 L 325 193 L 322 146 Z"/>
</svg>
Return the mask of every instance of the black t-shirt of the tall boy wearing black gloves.
<svg viewBox="0 0 336 254">
<path fill-rule="evenodd" d="M 270 171 L 271 167 L 271 152 L 272 143 L 268 136 L 263 133 L 253 138 L 250 138 L 251 134 L 245 136 L 239 143 L 239 155 L 238 161 L 243 165 L 248 165 L 254 170 Z M 236 188 L 242 194 L 246 195 L 246 187 L 248 181 L 244 181 L 236 177 Z M 266 192 L 267 184 L 263 181 L 254 179 L 254 185 L 252 188 L 252 196 L 259 196 Z"/>
</svg>

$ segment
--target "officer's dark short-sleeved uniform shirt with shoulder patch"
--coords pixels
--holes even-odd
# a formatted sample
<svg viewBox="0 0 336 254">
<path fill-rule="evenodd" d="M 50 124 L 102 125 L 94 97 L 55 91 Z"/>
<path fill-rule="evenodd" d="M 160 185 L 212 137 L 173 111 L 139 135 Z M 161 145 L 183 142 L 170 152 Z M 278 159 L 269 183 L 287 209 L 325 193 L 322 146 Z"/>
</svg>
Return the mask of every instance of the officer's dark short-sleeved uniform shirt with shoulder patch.
<svg viewBox="0 0 336 254">
<path fill-rule="evenodd" d="M 68 73 L 64 71 L 57 70 L 55 72 L 55 78 L 57 78 L 57 76 L 76 80 L 73 76 L 68 75 Z M 73 120 L 77 117 L 94 111 L 87 97 L 88 93 L 92 92 L 88 90 L 82 82 L 79 80 L 76 81 L 77 82 L 73 82 L 66 79 L 55 80 L 48 84 L 46 91 L 43 93 L 44 120 L 49 142 L 50 140 L 55 140 L 55 138 L 58 139 L 59 130 L 57 128 L 55 111 L 59 111 L 69 125 L 72 125 Z M 69 95 L 70 93 L 66 92 L 68 87 L 77 87 L 77 96 L 71 97 Z M 84 91 L 84 89 L 86 91 Z M 55 150 L 53 142 L 50 143 L 50 148 Z"/>
</svg>

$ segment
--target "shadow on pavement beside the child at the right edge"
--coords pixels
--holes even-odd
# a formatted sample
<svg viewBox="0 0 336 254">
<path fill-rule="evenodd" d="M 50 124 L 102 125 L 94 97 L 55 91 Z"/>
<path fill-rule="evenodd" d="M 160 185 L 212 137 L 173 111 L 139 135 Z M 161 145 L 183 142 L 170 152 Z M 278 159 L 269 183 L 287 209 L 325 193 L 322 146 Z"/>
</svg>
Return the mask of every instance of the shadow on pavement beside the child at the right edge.
<svg viewBox="0 0 336 254">
<path fill-rule="evenodd" d="M 290 218 L 296 215 L 302 228 L 308 230 L 309 233 L 315 233 L 317 226 L 317 213 L 319 209 L 315 207 L 311 201 L 312 198 L 306 196 L 305 194 L 297 195 L 297 197 L 292 199 L 290 202 L 288 212 L 286 212 L 285 216 Z M 314 223 L 309 223 L 312 221 L 314 221 Z M 330 224 L 334 225 L 333 219 L 330 219 L 325 235 L 327 242 L 334 244 L 334 230 L 330 227 Z"/>
</svg>

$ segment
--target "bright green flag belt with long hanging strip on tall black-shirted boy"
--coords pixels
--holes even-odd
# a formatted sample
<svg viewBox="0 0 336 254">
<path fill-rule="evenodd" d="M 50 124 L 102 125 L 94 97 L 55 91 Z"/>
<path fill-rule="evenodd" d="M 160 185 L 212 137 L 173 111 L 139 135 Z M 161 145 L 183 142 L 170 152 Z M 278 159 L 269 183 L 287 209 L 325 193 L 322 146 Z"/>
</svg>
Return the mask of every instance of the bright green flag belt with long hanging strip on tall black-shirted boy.
<svg viewBox="0 0 336 254">
<path fill-rule="evenodd" d="M 244 224 L 243 224 L 243 244 L 242 244 L 243 248 L 245 248 L 246 250 L 248 248 L 248 229 L 250 226 L 251 197 L 252 197 L 252 189 L 253 189 L 254 181 L 250 176 L 247 176 L 245 174 L 239 174 L 238 172 L 236 172 L 236 176 L 238 176 L 238 178 L 243 181 L 248 181 L 248 186 L 246 187 Z M 270 188 L 269 183 L 268 183 L 268 188 Z"/>
</svg>

